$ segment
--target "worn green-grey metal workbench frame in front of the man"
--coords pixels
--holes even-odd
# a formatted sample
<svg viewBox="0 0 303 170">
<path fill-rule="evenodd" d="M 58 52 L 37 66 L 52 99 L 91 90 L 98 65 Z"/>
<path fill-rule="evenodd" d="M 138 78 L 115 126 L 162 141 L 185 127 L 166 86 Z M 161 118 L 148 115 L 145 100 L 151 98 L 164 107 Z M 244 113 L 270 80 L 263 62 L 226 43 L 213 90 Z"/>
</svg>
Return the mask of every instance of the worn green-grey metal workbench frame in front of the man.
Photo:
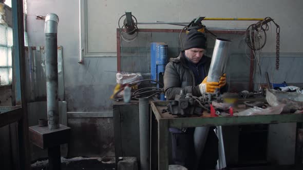
<svg viewBox="0 0 303 170">
<path fill-rule="evenodd" d="M 158 162 L 158 169 L 168 169 L 168 143 L 169 128 L 189 128 L 198 126 L 225 126 L 241 124 L 272 124 L 287 122 L 303 122 L 303 114 L 278 114 L 255 116 L 222 116 L 222 117 L 177 117 L 168 112 L 162 113 L 167 108 L 168 101 L 152 101 L 150 114 L 151 167 Z M 158 142 L 155 143 L 157 138 Z M 157 153 L 157 154 L 156 154 Z M 158 157 L 158 158 L 157 158 Z M 158 159 L 155 160 L 155 159 Z M 154 167 L 155 168 L 155 167 Z"/>
</svg>

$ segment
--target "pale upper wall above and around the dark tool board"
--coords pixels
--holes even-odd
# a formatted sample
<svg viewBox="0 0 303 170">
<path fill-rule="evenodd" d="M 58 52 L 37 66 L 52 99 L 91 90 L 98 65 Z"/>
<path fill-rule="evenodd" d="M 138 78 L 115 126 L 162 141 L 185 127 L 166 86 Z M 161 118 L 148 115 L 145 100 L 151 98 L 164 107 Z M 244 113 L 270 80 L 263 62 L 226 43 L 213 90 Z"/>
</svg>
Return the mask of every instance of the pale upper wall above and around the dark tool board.
<svg viewBox="0 0 303 170">
<path fill-rule="evenodd" d="M 131 11 L 138 22 L 190 22 L 197 16 L 250 17 L 270 16 L 281 27 L 280 52 L 303 52 L 303 1 L 301 0 L 87 0 L 88 51 L 94 53 L 116 52 L 116 28 L 125 11 Z M 122 21 L 123 22 L 123 21 Z M 121 24 L 122 24 L 121 22 Z M 247 28 L 255 22 L 205 21 L 206 27 Z M 275 27 L 269 31 L 263 52 L 275 51 Z M 181 28 L 169 25 L 139 25 L 139 28 Z"/>
</svg>

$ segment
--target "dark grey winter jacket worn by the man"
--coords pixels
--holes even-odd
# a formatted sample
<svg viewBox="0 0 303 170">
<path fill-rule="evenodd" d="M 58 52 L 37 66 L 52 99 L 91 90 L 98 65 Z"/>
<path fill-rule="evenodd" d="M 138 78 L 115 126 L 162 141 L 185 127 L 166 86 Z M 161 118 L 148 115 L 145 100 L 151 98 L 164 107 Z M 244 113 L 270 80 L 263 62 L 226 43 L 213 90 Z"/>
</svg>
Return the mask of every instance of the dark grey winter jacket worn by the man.
<svg viewBox="0 0 303 170">
<path fill-rule="evenodd" d="M 206 56 L 203 56 L 206 57 Z M 207 76 L 209 73 L 211 58 L 206 57 L 204 63 L 204 72 Z M 164 73 L 164 91 L 167 100 L 174 100 L 176 94 L 180 94 L 180 90 L 183 92 L 191 93 L 194 96 L 201 96 L 198 86 L 195 86 L 195 76 L 192 70 L 186 65 L 186 58 L 183 52 L 180 52 L 177 58 L 169 59 L 165 67 Z"/>
</svg>

